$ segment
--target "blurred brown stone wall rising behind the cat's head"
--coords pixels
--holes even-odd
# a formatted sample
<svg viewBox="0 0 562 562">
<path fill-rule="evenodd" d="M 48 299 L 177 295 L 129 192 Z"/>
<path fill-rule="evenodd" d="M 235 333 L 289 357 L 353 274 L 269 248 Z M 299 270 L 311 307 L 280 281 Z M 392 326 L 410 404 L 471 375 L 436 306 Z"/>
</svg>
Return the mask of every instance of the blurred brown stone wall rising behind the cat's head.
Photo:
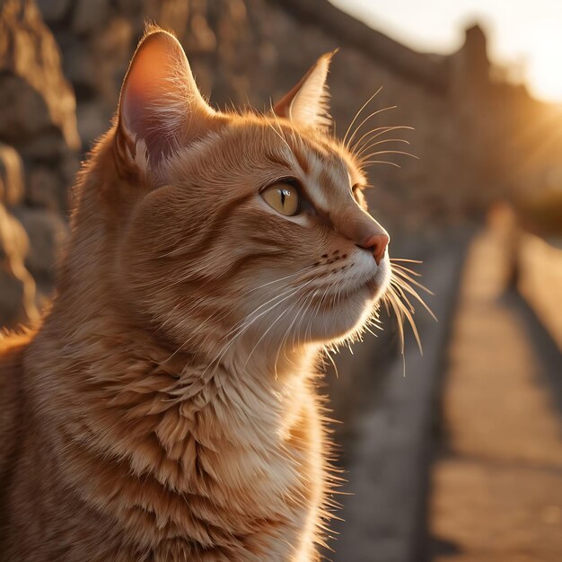
<svg viewBox="0 0 562 562">
<path fill-rule="evenodd" d="M 478 27 L 467 31 L 459 52 L 439 57 L 400 45 L 327 0 L 36 1 L 0 0 L 0 214 L 10 217 L 0 229 L 0 256 L 11 246 L 31 273 L 16 275 L 3 258 L 5 276 L 18 279 L 12 283 L 30 303 L 38 302 L 30 297 L 33 279 L 40 294 L 53 285 L 78 158 L 109 127 L 145 21 L 177 34 L 200 89 L 221 108 L 268 109 L 317 57 L 340 48 L 329 76 L 338 135 L 381 87 L 356 125 L 380 112 L 355 140 L 374 127 L 415 129 L 374 132 L 381 136 L 373 141 L 385 143 L 373 149 L 419 157 L 373 155 L 400 165 L 376 163 L 369 170 L 373 214 L 394 241 L 400 233 L 438 235 L 501 194 L 505 170 L 519 154 L 506 155 L 505 139 L 518 137 L 525 127 L 518 116 L 536 105 L 522 88 L 490 79 Z M 9 235 L 20 242 L 7 241 Z M 0 321 L 25 317 L 10 314 Z"/>
</svg>

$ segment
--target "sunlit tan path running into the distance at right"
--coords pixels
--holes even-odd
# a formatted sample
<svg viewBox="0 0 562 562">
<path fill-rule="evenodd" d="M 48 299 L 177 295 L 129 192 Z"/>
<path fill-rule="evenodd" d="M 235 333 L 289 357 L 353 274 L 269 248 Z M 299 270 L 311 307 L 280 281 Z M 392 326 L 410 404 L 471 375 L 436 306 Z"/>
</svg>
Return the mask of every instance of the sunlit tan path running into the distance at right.
<svg viewBox="0 0 562 562">
<path fill-rule="evenodd" d="M 562 356 L 504 294 L 504 255 L 489 228 L 464 268 L 432 471 L 435 562 L 562 560 Z"/>
</svg>

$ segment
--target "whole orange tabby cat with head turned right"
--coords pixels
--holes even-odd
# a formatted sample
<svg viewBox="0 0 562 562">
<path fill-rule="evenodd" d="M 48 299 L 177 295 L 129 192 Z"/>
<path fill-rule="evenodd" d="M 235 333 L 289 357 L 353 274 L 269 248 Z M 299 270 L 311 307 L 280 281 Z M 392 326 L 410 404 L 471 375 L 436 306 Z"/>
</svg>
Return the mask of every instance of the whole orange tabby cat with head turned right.
<svg viewBox="0 0 562 562">
<path fill-rule="evenodd" d="M 309 561 L 330 489 L 322 345 L 389 283 L 321 57 L 222 113 L 152 28 L 85 163 L 57 293 L 0 340 L 4 561 Z"/>
</svg>

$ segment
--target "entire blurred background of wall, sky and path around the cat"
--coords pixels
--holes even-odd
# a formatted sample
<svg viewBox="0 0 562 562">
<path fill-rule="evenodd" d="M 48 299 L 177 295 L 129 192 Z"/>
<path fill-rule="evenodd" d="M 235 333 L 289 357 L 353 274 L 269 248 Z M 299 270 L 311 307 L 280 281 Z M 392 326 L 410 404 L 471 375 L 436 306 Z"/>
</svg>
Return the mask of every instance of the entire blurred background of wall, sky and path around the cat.
<svg viewBox="0 0 562 562">
<path fill-rule="evenodd" d="M 391 256 L 423 261 L 438 322 L 416 306 L 423 356 L 383 312 L 335 357 L 349 484 L 326 559 L 559 562 L 562 4 L 0 0 L 0 325 L 48 303 L 75 172 L 145 20 L 175 31 L 219 108 L 268 108 L 339 47 L 338 134 L 382 88 L 355 138 L 419 158 L 379 155 L 368 198 Z"/>
</svg>

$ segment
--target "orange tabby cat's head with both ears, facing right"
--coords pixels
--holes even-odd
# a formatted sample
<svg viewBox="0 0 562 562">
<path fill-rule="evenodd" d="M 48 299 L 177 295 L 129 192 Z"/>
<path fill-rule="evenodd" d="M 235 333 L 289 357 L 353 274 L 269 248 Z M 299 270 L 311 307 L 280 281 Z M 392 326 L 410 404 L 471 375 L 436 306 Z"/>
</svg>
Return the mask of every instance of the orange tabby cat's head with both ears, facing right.
<svg viewBox="0 0 562 562">
<path fill-rule="evenodd" d="M 329 134 L 330 58 L 269 114 L 225 113 L 171 34 L 140 42 L 112 137 L 130 200 L 119 284 L 178 347 L 220 356 L 335 342 L 389 284 L 389 236 L 366 211 L 364 173 Z"/>
</svg>

